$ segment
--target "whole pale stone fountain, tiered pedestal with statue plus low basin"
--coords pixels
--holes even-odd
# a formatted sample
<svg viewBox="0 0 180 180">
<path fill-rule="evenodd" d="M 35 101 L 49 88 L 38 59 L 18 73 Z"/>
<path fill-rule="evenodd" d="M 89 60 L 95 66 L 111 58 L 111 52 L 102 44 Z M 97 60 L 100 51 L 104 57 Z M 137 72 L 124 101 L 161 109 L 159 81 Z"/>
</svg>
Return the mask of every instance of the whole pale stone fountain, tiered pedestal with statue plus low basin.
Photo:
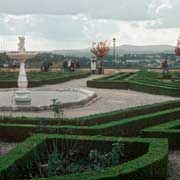
<svg viewBox="0 0 180 180">
<path fill-rule="evenodd" d="M 11 59 L 19 60 L 20 70 L 18 77 L 18 89 L 0 90 L 0 111 L 39 111 L 48 110 L 52 100 L 61 101 L 62 107 L 82 106 L 96 98 L 93 91 L 82 88 L 65 88 L 55 90 L 27 89 L 25 62 L 36 56 L 35 52 L 26 52 L 25 38 L 19 37 L 18 51 L 8 52 Z"/>
</svg>

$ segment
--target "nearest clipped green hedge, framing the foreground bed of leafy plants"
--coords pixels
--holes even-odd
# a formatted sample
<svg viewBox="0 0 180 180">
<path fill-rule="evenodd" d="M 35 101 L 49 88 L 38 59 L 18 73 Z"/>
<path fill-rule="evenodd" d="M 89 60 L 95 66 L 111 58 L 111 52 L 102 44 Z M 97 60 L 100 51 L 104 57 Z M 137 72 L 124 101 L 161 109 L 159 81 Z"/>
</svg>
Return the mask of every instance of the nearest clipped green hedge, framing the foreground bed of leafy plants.
<svg viewBox="0 0 180 180">
<path fill-rule="evenodd" d="M 38 180 L 165 180 L 167 173 L 168 143 L 165 139 L 142 139 L 142 138 L 120 138 L 103 136 L 70 136 L 70 135 L 46 135 L 37 134 L 28 138 L 23 143 L 4 156 L 0 156 L 0 179 L 14 180 L 20 177 L 24 168 L 33 160 L 34 150 L 43 151 L 44 141 L 49 139 L 56 140 L 75 140 L 88 141 L 89 143 L 100 143 L 104 145 L 108 142 L 123 142 L 142 144 L 148 147 L 146 153 L 134 160 L 123 164 L 95 170 L 70 174 L 60 177 L 42 178 Z M 148 145 L 148 146 L 147 146 Z M 135 146 L 134 146 L 135 147 Z M 86 147 L 88 148 L 88 146 Z M 101 147 L 103 148 L 103 147 Z M 134 149 L 135 151 L 135 149 Z M 34 179 L 35 180 L 35 179 Z M 37 179 L 36 179 L 37 180 Z"/>
</svg>

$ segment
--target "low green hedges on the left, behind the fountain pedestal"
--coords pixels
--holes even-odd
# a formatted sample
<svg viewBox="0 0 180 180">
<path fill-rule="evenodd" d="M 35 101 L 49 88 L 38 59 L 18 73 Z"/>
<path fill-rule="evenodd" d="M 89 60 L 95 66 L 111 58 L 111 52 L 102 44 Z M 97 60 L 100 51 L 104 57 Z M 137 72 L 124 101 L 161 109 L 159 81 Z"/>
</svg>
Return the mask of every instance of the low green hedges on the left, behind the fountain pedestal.
<svg viewBox="0 0 180 180">
<path fill-rule="evenodd" d="M 28 86 L 37 87 L 45 84 L 56 84 L 72 79 L 79 79 L 89 76 L 89 72 L 30 72 L 27 73 Z M 0 88 L 17 87 L 18 73 L 16 72 L 0 72 Z"/>
</svg>

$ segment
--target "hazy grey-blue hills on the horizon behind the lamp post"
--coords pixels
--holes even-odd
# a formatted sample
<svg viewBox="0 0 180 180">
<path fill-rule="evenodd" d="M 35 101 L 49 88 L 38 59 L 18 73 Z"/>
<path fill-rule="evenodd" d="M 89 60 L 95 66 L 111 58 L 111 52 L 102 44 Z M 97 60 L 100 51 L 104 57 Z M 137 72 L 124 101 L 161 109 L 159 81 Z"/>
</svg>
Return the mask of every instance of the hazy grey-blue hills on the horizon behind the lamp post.
<svg viewBox="0 0 180 180">
<path fill-rule="evenodd" d="M 174 46 L 170 45 L 148 45 L 148 46 L 136 46 L 136 45 L 122 45 L 116 47 L 116 54 L 154 54 L 154 53 L 174 53 Z M 90 49 L 73 49 L 73 50 L 54 50 L 54 54 L 62 54 L 66 56 L 78 56 L 78 57 L 91 57 Z M 112 54 L 112 48 L 110 50 Z"/>
</svg>

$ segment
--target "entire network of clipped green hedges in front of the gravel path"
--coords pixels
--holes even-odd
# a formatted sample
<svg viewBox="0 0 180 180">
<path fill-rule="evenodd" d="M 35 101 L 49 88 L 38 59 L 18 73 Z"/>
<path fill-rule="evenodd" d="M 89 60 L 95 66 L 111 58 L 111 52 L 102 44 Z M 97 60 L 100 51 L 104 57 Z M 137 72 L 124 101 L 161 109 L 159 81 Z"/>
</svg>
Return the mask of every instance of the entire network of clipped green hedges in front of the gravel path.
<svg viewBox="0 0 180 180">
<path fill-rule="evenodd" d="M 166 180 L 168 148 L 180 147 L 179 117 L 180 100 L 73 119 L 1 117 L 0 139 L 21 143 L 0 156 L 0 179 L 22 179 L 34 152 L 41 157 L 55 141 L 58 147 L 76 144 L 85 154 L 123 142 L 128 160 L 105 169 L 36 180 Z"/>
</svg>

